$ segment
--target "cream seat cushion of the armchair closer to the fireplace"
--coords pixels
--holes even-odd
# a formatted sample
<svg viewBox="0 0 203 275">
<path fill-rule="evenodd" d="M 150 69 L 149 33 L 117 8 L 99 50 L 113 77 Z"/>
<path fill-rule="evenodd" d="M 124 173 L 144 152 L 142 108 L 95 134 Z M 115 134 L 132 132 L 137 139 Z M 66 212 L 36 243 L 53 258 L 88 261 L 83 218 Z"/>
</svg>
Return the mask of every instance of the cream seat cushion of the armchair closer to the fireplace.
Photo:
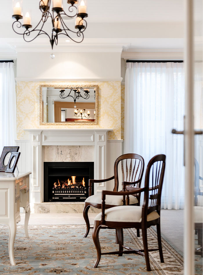
<svg viewBox="0 0 203 275">
<path fill-rule="evenodd" d="M 92 195 L 85 202 L 102 204 L 102 194 Z M 109 205 L 123 205 L 123 196 L 106 195 L 105 203 Z M 138 203 L 138 200 L 133 195 L 129 195 L 129 204 Z"/>
</svg>

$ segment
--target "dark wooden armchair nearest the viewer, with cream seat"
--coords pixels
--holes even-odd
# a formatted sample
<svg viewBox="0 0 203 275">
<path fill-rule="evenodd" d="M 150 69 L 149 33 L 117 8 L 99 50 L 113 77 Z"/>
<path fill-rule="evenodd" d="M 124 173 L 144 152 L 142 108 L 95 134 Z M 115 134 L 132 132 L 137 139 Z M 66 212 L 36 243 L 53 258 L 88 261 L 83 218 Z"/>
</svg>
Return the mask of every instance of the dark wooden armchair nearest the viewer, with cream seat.
<svg viewBox="0 0 203 275">
<path fill-rule="evenodd" d="M 161 230 L 160 230 L 160 204 L 162 185 L 164 180 L 165 171 L 165 155 L 156 155 L 153 157 L 146 168 L 145 186 L 144 188 L 135 188 L 133 191 L 111 192 L 102 191 L 102 213 L 99 213 L 95 217 L 95 224 L 93 229 L 93 241 L 97 249 L 97 261 L 95 266 L 97 267 L 101 258 L 101 255 L 106 254 L 130 254 L 135 253 L 145 256 L 147 270 L 150 271 L 149 251 L 159 250 L 161 263 L 164 262 L 162 243 L 161 243 Z M 150 186 L 150 187 L 149 187 Z M 144 192 L 144 203 L 142 206 L 128 205 L 129 197 L 135 193 Z M 126 196 L 127 205 L 115 206 L 110 209 L 106 209 L 106 196 L 107 195 L 124 195 Z M 101 252 L 99 243 L 99 230 L 105 225 L 108 228 L 116 228 L 119 251 L 115 252 Z M 147 244 L 147 228 L 151 225 L 157 225 L 157 239 L 158 249 L 148 249 Z M 133 250 L 123 244 L 123 228 L 140 228 L 142 229 L 143 238 L 143 250 Z M 126 248 L 126 250 L 123 250 Z M 143 254 L 144 252 L 144 254 Z"/>
</svg>

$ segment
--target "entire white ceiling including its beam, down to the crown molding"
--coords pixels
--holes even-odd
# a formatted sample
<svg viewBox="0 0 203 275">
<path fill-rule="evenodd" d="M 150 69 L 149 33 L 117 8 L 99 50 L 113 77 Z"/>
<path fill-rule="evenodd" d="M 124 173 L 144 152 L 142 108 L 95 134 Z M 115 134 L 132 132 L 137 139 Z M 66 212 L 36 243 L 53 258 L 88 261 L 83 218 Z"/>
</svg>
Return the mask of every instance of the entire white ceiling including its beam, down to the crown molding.
<svg viewBox="0 0 203 275">
<path fill-rule="evenodd" d="M 66 11 L 67 0 L 64 1 Z M 201 0 L 196 0 L 199 7 Z M 32 25 L 41 17 L 39 0 L 24 0 L 23 6 L 31 7 Z M 12 30 L 12 0 L 1 1 L 0 57 L 29 47 L 50 49 L 48 39 L 35 39 L 26 43 Z M 202 8 L 197 9 L 196 19 L 201 18 Z M 72 22 L 71 22 L 72 21 Z M 184 45 L 184 0 L 88 0 L 88 26 L 83 43 L 66 43 L 59 40 L 57 50 L 73 47 L 88 48 L 123 47 L 124 51 L 182 51 Z M 69 22 L 68 22 L 69 23 Z M 74 28 L 74 20 L 70 20 Z M 50 28 L 50 25 L 48 26 Z M 55 47 L 56 49 L 56 47 Z"/>
</svg>

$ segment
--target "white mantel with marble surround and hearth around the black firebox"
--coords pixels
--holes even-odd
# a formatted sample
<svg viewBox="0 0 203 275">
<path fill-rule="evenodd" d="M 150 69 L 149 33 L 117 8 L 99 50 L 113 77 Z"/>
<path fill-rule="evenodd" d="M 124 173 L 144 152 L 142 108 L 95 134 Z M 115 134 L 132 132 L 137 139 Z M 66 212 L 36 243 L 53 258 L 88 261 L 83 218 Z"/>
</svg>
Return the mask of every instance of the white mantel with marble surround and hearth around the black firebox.
<svg viewBox="0 0 203 275">
<path fill-rule="evenodd" d="M 82 212 L 84 203 L 43 202 L 45 161 L 93 161 L 94 178 L 107 177 L 107 133 L 113 129 L 25 129 L 30 133 L 30 205 L 37 213 Z M 120 142 L 121 145 L 121 142 Z M 120 152 L 118 152 L 119 154 Z M 115 160 L 114 160 L 115 161 Z M 106 183 L 95 184 L 95 194 Z M 91 212 L 99 210 L 92 209 Z"/>
</svg>

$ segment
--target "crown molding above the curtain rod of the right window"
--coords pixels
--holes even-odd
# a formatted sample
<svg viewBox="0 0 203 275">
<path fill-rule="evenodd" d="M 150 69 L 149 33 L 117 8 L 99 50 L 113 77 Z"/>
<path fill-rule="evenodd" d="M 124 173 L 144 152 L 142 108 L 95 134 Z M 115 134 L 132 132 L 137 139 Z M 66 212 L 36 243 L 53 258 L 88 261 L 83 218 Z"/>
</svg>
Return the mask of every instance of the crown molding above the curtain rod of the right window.
<svg viewBox="0 0 203 275">
<path fill-rule="evenodd" d="M 125 60 L 183 60 L 183 52 L 174 51 L 136 51 L 136 52 L 122 52 L 121 57 Z"/>
</svg>

